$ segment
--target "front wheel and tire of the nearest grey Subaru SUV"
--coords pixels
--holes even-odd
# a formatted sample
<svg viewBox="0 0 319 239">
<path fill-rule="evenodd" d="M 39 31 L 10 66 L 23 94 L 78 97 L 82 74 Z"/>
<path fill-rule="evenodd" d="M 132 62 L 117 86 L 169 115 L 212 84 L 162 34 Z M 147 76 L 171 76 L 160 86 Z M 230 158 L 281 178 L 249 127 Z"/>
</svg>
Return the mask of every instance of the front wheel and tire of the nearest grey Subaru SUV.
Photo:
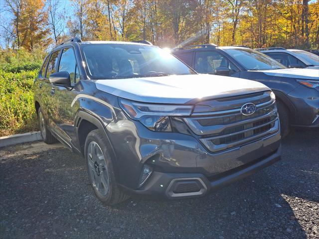
<svg viewBox="0 0 319 239">
<path fill-rule="evenodd" d="M 90 184 L 104 205 L 118 204 L 129 198 L 116 183 L 111 155 L 99 129 L 91 131 L 86 137 L 85 161 Z"/>
</svg>

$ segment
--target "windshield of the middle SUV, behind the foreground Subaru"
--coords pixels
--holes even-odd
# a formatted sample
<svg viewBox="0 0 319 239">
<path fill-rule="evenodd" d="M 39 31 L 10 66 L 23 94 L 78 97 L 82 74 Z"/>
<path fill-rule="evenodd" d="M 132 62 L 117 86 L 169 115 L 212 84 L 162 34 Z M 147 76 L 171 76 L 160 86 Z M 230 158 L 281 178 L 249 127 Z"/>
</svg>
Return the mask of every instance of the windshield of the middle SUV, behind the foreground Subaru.
<svg viewBox="0 0 319 239">
<path fill-rule="evenodd" d="M 273 58 L 248 48 L 222 48 L 247 70 L 274 70 L 286 68 Z"/>
</svg>

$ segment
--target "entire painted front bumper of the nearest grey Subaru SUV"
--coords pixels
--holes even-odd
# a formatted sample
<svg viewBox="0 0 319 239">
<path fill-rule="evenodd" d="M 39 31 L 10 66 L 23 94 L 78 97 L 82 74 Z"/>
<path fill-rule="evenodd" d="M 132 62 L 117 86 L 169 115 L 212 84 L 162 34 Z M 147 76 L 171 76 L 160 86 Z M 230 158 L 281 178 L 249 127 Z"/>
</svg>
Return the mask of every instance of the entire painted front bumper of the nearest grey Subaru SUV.
<svg viewBox="0 0 319 239">
<path fill-rule="evenodd" d="M 268 136 L 220 152 L 209 152 L 191 135 L 154 132 L 121 114 L 106 129 L 117 155 L 117 182 L 135 194 L 166 198 L 205 195 L 280 159 L 279 126 Z M 153 173 L 138 188 L 144 164 L 152 166 Z M 175 187 L 186 194 L 175 195 Z M 191 189 L 195 191 L 189 192 Z"/>
</svg>

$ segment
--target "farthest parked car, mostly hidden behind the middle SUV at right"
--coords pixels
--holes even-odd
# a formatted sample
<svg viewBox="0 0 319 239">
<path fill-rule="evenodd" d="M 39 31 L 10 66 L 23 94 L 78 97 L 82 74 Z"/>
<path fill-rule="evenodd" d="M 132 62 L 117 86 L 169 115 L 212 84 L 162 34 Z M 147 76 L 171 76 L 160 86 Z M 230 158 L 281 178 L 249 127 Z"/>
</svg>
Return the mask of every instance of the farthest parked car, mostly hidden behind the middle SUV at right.
<svg viewBox="0 0 319 239">
<path fill-rule="evenodd" d="M 319 56 L 308 51 L 283 47 L 259 48 L 258 50 L 288 68 L 319 69 Z"/>
</svg>

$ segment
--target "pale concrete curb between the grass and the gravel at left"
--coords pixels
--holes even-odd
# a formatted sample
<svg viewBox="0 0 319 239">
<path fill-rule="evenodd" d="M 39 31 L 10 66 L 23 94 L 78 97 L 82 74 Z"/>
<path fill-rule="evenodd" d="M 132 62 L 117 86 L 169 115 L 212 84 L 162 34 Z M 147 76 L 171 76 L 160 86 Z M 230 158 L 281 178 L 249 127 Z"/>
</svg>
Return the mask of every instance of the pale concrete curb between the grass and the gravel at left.
<svg viewBox="0 0 319 239">
<path fill-rule="evenodd" d="M 18 133 L 8 136 L 0 137 L 0 147 L 9 146 L 17 143 L 25 143 L 41 140 L 42 136 L 40 131 L 33 131 L 28 133 Z"/>
</svg>

